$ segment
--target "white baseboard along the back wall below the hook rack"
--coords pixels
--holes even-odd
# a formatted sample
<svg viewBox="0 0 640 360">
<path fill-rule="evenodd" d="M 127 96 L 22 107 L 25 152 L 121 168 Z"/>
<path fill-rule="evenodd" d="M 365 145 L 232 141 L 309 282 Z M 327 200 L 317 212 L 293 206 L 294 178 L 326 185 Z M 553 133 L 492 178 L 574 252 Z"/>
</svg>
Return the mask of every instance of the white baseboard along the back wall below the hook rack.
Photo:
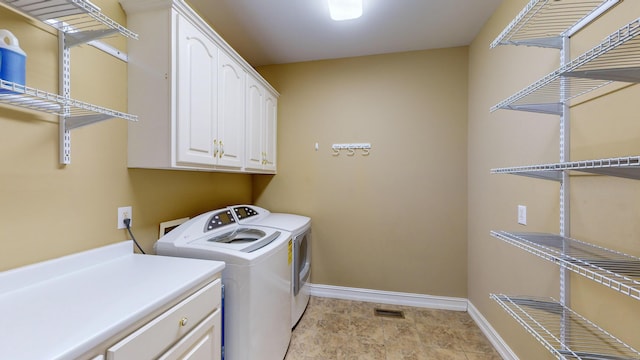
<svg viewBox="0 0 640 360">
<path fill-rule="evenodd" d="M 392 291 L 349 288 L 332 285 L 309 284 L 312 296 L 356 300 L 380 304 L 404 305 L 441 310 L 467 311 L 467 299 L 400 293 Z"/>
</svg>

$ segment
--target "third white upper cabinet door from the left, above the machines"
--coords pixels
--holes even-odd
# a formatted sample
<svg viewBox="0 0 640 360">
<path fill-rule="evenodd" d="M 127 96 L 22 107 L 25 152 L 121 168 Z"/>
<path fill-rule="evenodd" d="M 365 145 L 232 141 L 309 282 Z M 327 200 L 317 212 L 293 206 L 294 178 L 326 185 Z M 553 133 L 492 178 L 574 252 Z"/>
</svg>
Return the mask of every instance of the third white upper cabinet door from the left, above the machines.
<svg viewBox="0 0 640 360">
<path fill-rule="evenodd" d="M 263 167 L 262 122 L 265 110 L 264 96 L 264 87 L 252 77 L 247 77 L 247 154 L 245 162 L 247 169 L 261 170 Z"/>
</svg>

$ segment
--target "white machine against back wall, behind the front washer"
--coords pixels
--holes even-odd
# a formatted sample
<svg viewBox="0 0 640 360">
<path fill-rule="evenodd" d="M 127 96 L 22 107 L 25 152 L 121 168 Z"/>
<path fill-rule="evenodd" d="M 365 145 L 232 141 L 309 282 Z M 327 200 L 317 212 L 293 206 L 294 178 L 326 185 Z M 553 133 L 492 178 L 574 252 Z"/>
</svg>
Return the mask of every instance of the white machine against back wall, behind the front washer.
<svg viewBox="0 0 640 360">
<path fill-rule="evenodd" d="M 240 224 L 264 226 L 291 233 L 293 239 L 293 267 L 291 279 L 291 327 L 293 328 L 309 304 L 309 276 L 311 276 L 311 218 L 272 213 L 253 205 L 231 207 Z"/>
</svg>

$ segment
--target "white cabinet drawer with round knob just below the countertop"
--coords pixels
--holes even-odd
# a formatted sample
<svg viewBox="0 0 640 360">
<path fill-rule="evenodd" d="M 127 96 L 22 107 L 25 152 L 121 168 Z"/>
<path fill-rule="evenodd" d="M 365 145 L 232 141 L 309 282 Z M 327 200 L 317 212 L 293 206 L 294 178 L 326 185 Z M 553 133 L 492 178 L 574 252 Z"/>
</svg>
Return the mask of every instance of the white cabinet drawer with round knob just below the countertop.
<svg viewBox="0 0 640 360">
<path fill-rule="evenodd" d="M 107 360 L 151 359 L 160 355 L 220 306 L 218 279 L 162 313 L 107 350 Z"/>
</svg>

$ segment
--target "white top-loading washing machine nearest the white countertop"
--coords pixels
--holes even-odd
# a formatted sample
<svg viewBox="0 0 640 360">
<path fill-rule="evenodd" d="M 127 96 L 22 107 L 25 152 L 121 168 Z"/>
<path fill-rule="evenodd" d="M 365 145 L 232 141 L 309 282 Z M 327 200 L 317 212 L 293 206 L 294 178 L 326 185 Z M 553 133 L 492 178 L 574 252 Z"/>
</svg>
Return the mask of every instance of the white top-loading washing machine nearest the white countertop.
<svg viewBox="0 0 640 360">
<path fill-rule="evenodd" d="M 155 250 L 224 261 L 224 358 L 282 360 L 291 340 L 291 243 L 290 232 L 239 224 L 225 208 L 188 220 Z"/>
</svg>

